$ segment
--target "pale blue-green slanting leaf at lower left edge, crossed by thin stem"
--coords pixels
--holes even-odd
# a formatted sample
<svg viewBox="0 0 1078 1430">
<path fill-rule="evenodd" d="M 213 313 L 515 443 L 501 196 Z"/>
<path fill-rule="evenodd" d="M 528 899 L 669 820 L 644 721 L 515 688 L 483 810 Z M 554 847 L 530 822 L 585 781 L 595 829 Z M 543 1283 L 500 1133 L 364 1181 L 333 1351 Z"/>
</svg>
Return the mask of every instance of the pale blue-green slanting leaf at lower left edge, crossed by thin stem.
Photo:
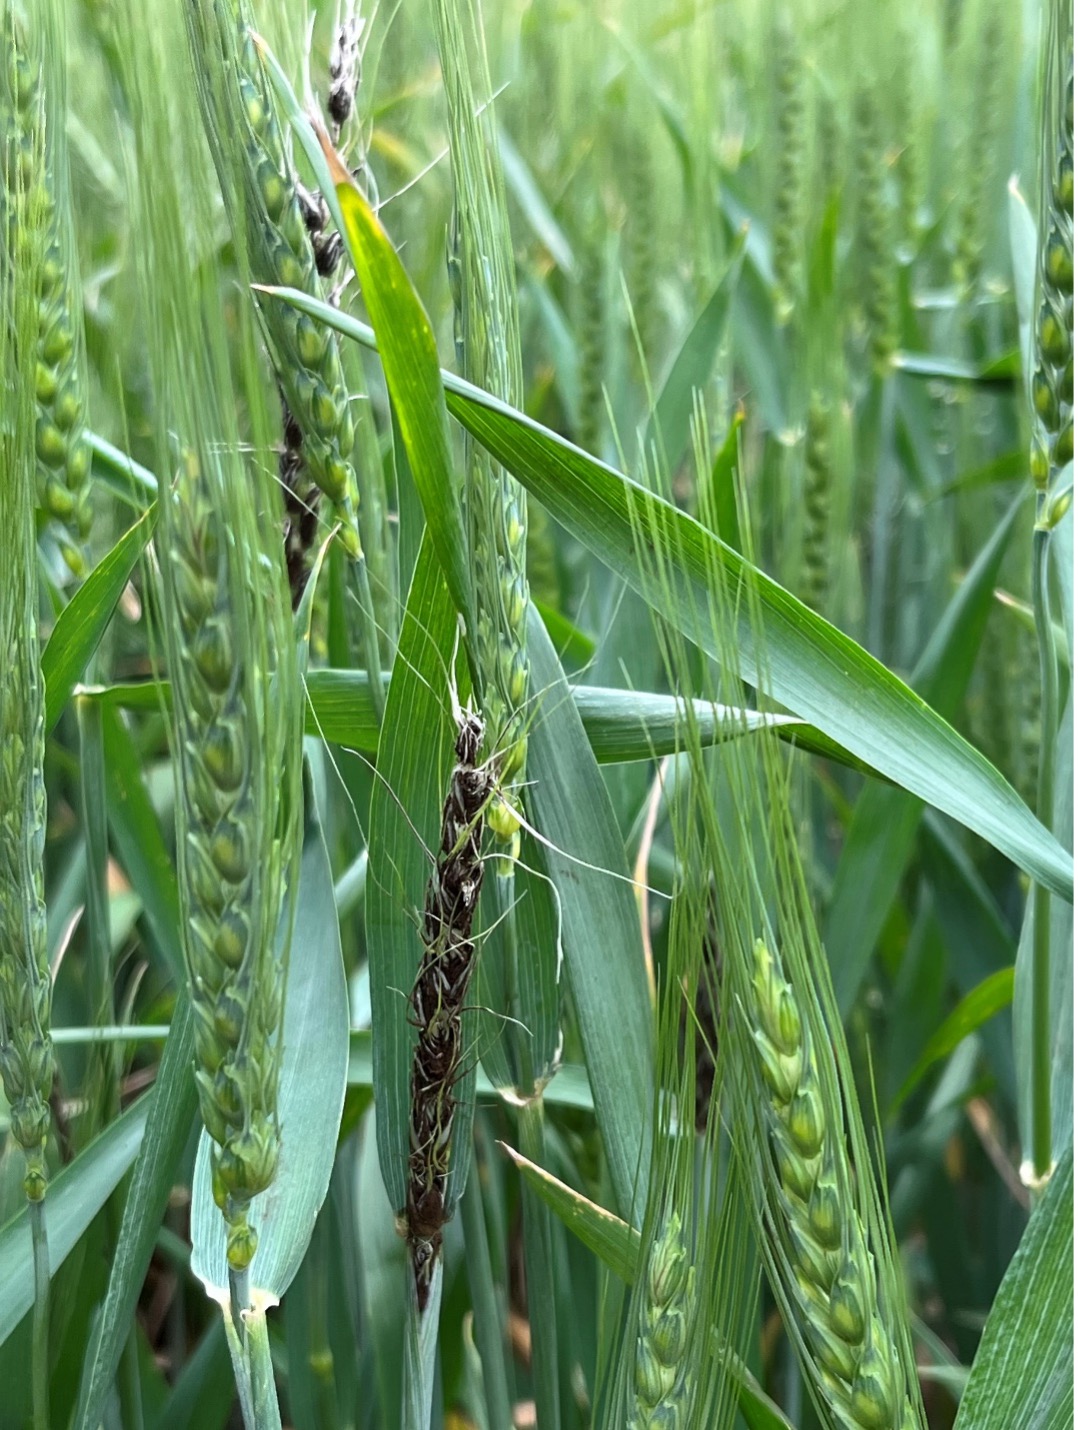
<svg viewBox="0 0 1078 1430">
<path fill-rule="evenodd" d="M 134 1161 L 149 1113 L 147 1094 L 99 1133 L 73 1163 L 50 1180 L 46 1201 L 50 1276 L 56 1276 L 57 1267 L 63 1266 Z M 23 1207 L 0 1227 L 0 1343 L 7 1340 L 30 1310 L 33 1298 L 30 1220 Z M 127 1326 L 124 1333 L 126 1330 Z"/>
</svg>

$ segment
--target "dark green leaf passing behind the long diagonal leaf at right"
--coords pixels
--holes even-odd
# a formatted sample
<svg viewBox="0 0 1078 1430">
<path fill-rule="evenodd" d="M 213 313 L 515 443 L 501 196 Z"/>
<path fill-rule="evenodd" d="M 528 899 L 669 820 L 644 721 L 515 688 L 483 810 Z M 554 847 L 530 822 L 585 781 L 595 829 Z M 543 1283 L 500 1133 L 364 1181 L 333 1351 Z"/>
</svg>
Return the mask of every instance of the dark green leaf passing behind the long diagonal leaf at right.
<svg viewBox="0 0 1078 1430">
<path fill-rule="evenodd" d="M 1024 499 L 997 526 L 952 596 L 912 684 L 941 715 L 954 719 L 972 675 L 992 592 Z M 835 998 L 845 1017 L 884 928 L 916 839 L 924 805 L 902 789 L 869 784 L 861 792 L 835 869 L 824 925 Z"/>
</svg>

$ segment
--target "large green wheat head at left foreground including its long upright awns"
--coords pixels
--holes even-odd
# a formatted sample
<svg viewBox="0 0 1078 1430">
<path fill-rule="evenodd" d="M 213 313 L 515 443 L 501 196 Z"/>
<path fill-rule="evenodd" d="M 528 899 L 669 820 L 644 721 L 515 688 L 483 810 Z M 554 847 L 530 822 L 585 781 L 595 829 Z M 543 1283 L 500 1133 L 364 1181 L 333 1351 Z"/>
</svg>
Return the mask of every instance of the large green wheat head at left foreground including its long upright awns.
<svg viewBox="0 0 1078 1430">
<path fill-rule="evenodd" d="M 194 262 L 192 242 L 212 232 L 213 193 L 193 102 L 162 97 L 144 77 L 164 39 L 134 49 L 129 76 L 157 469 L 172 473 L 154 546 L 196 1081 L 229 1264 L 242 1271 L 257 1246 L 250 1203 L 273 1181 L 279 1155 L 289 951 L 287 924 L 283 937 L 279 928 L 299 857 L 302 704 L 250 307 L 240 305 L 229 335 L 223 275 Z M 250 423 L 243 433 L 233 385 Z"/>
</svg>

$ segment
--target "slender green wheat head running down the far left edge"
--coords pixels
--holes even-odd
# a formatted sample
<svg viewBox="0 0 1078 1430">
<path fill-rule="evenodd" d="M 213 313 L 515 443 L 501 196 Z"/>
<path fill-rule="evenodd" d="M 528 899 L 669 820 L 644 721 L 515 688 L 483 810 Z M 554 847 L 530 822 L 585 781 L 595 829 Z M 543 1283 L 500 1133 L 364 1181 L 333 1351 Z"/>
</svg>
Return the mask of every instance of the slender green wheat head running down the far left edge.
<svg viewBox="0 0 1078 1430">
<path fill-rule="evenodd" d="M 7 31 L 10 34 L 10 31 Z M 9 59 L 11 51 L 7 51 Z M 16 172 L 16 214 L 33 216 L 31 194 L 41 202 L 40 139 L 30 146 L 9 130 L 7 156 L 29 157 Z M 23 180 L 26 187 L 23 187 Z M 10 230 L 9 230 L 10 232 Z M 23 1185 L 31 1201 L 46 1190 L 44 1144 L 53 1051 L 49 1035 L 51 982 L 44 909 L 44 682 L 37 644 L 34 552 L 33 386 L 11 380 L 20 372 L 19 352 L 37 336 L 34 300 L 40 247 L 20 242 L 14 263 L 0 266 L 0 1077 L 11 1108 L 11 1135 L 26 1154 Z M 27 375 L 29 378 L 29 375 Z"/>
</svg>

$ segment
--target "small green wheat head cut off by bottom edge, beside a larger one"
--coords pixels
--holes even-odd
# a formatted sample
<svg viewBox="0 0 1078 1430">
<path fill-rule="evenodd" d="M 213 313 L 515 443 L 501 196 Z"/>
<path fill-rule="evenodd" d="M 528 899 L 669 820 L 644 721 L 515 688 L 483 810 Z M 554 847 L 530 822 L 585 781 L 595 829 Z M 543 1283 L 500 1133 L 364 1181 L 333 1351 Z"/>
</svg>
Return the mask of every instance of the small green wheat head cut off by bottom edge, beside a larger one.
<svg viewBox="0 0 1078 1430">
<path fill-rule="evenodd" d="M 675 1211 L 648 1254 L 629 1430 L 678 1430 L 683 1423 L 695 1283 Z"/>
</svg>

